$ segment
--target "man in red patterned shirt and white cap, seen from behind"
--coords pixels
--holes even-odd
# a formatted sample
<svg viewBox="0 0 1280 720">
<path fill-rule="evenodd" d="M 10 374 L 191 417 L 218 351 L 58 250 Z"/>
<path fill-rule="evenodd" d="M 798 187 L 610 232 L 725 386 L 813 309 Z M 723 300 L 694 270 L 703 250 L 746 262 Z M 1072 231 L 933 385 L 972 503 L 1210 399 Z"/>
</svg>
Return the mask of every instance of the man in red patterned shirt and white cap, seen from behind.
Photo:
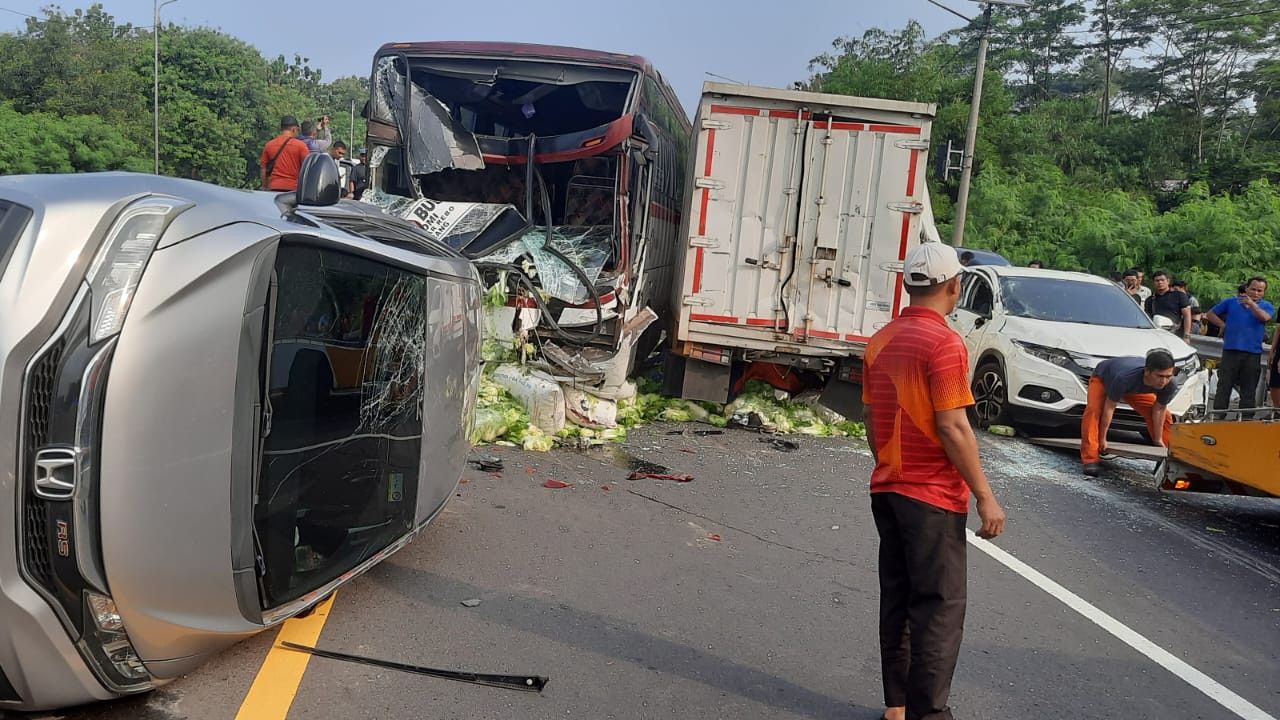
<svg viewBox="0 0 1280 720">
<path fill-rule="evenodd" d="M 965 612 L 965 520 L 1005 529 L 969 427 L 969 352 L 945 315 L 960 300 L 960 259 L 927 242 L 906 256 L 909 307 L 867 347 L 863 402 L 876 456 L 881 670 L 887 720 L 951 720 L 947 697 Z"/>
</svg>

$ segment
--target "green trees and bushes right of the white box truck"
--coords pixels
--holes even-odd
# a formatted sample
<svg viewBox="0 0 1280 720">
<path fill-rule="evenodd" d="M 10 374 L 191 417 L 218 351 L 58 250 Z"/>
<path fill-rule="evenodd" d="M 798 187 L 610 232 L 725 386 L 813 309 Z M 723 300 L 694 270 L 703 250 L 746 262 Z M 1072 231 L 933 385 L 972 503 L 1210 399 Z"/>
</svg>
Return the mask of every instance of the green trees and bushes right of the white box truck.
<svg viewBox="0 0 1280 720">
<path fill-rule="evenodd" d="M 934 147 L 960 147 L 979 23 L 837 38 L 796 85 L 934 102 Z M 1277 29 L 1257 0 L 997 10 L 965 243 L 1015 264 L 1166 269 L 1206 304 L 1252 274 L 1280 287 Z M 929 184 L 948 237 L 956 176 Z"/>
</svg>

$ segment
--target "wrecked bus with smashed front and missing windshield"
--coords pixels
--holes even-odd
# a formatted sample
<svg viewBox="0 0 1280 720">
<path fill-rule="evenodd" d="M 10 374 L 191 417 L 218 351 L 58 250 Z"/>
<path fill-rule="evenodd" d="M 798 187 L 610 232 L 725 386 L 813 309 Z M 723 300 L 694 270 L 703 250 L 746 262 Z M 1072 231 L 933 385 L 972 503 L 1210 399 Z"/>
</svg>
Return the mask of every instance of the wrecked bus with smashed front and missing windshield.
<svg viewBox="0 0 1280 720">
<path fill-rule="evenodd" d="M 662 76 L 634 55 L 396 42 L 370 88 L 364 200 L 475 261 L 490 347 L 621 384 L 673 314 L 691 124 Z"/>
</svg>

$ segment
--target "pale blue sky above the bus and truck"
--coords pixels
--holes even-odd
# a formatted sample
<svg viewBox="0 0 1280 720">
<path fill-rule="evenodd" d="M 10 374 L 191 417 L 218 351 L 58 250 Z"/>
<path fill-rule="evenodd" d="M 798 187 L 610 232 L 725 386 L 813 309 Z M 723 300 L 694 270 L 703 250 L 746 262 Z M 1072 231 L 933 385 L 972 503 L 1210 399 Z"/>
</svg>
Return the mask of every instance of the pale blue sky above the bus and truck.
<svg viewBox="0 0 1280 720">
<path fill-rule="evenodd" d="M 947 3 L 966 15 L 977 13 L 970 0 Z M 0 0 L 0 32 L 20 31 L 20 13 L 36 15 L 49 4 Z M 70 12 L 90 1 L 59 4 Z M 152 0 L 105 0 L 102 5 L 116 22 L 152 24 Z M 367 76 L 374 51 L 397 41 L 497 40 L 631 53 L 658 68 L 690 114 L 703 81 L 713 79 L 705 73 L 786 87 L 805 79 L 809 60 L 827 51 L 836 37 L 872 27 L 896 29 L 909 19 L 919 20 L 929 37 L 961 24 L 925 0 L 179 0 L 165 6 L 161 17 L 165 23 L 221 29 L 269 58 L 301 54 L 325 79 Z"/>
</svg>

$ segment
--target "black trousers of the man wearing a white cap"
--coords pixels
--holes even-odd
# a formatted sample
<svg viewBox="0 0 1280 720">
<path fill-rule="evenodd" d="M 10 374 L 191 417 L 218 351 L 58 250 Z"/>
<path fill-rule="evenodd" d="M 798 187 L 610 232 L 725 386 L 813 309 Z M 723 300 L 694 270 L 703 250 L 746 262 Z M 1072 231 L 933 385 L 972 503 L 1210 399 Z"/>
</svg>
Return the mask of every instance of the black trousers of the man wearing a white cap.
<svg viewBox="0 0 1280 720">
<path fill-rule="evenodd" d="M 964 635 L 965 519 L 910 497 L 872 495 L 879 532 L 884 705 L 908 720 L 951 720 L 947 697 Z"/>
</svg>

